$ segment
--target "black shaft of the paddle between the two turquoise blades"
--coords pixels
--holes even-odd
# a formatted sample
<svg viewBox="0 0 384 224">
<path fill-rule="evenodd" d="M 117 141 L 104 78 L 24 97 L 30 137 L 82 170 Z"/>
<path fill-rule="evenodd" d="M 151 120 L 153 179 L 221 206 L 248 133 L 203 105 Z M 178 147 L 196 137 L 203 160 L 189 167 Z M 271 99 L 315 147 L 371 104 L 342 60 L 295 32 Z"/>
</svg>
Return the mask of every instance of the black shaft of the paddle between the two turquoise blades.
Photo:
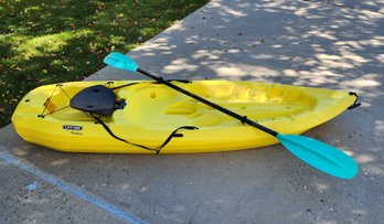
<svg viewBox="0 0 384 224">
<path fill-rule="evenodd" d="M 161 84 L 164 84 L 164 85 L 173 88 L 174 90 L 178 90 L 178 92 L 180 92 L 182 94 L 185 94 L 186 96 L 190 96 L 190 97 L 192 97 L 192 98 L 194 98 L 194 99 L 196 99 L 196 100 L 199 100 L 199 102 L 201 102 L 203 104 L 206 104 L 210 107 L 213 107 L 213 108 L 215 108 L 215 109 L 217 109 L 217 110 L 220 110 L 220 111 L 222 111 L 222 113 L 224 113 L 224 114 L 226 114 L 226 115 L 228 115 L 231 117 L 234 117 L 234 118 L 241 120 L 244 124 L 248 124 L 248 125 L 250 125 L 250 126 L 253 126 L 253 127 L 255 127 L 257 129 L 260 129 L 260 130 L 263 130 L 263 131 L 265 131 L 265 132 L 267 132 L 267 134 L 269 134 L 269 135 L 271 135 L 274 137 L 276 137 L 278 135 L 278 132 L 276 132 L 275 130 L 271 130 L 271 129 L 269 129 L 269 128 L 267 128 L 265 126 L 262 126 L 258 122 L 249 120 L 246 116 L 238 115 L 238 114 L 236 114 L 236 113 L 234 113 L 234 111 L 232 111 L 230 109 L 226 109 L 224 107 L 221 107 L 221 106 L 218 106 L 218 105 L 216 105 L 216 104 L 214 104 L 214 103 L 212 103 L 212 102 L 210 102 L 210 100 L 207 100 L 205 98 L 202 98 L 202 97 L 200 97 L 198 95 L 194 95 L 191 92 L 188 92 L 188 90 L 185 90 L 185 89 L 183 89 L 183 88 L 181 88 L 181 87 L 179 87 L 179 86 L 177 86 L 177 85 L 166 81 L 164 78 L 162 78 L 160 76 L 153 75 L 153 74 L 148 73 L 148 72 L 146 72 L 143 70 L 140 70 L 140 68 L 137 68 L 137 72 L 139 72 L 139 73 L 141 73 L 141 74 L 143 74 L 143 75 L 146 75 L 146 76 L 148 76 L 148 77 L 150 77 L 152 79 L 156 79 L 157 82 L 159 82 Z"/>
</svg>

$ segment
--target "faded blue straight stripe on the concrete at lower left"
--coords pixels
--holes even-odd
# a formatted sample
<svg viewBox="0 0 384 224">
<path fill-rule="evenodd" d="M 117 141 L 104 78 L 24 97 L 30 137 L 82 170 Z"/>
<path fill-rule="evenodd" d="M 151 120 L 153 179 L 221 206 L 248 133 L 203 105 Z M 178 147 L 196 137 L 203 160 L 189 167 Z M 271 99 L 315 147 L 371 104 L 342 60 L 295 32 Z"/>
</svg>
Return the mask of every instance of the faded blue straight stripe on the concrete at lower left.
<svg viewBox="0 0 384 224">
<path fill-rule="evenodd" d="M 119 207 L 110 204 L 109 202 L 106 202 L 103 199 L 98 199 L 97 196 L 92 195 L 90 193 L 84 191 L 82 188 L 76 186 L 76 185 L 71 184 L 71 183 L 66 183 L 65 181 L 62 181 L 62 180 L 55 178 L 54 175 L 51 175 L 51 174 L 45 173 L 41 170 L 38 170 L 36 168 L 33 168 L 32 166 L 19 160 L 18 158 L 13 157 L 12 154 L 0 152 L 0 159 L 6 161 L 7 163 L 13 164 L 13 166 L 26 171 L 26 172 L 32 173 L 32 174 L 41 178 L 42 180 L 44 180 L 53 185 L 56 185 L 57 188 L 62 189 L 65 192 L 68 192 L 73 195 L 76 195 L 79 199 L 83 199 L 83 200 L 107 211 L 108 213 L 113 214 L 116 217 L 119 217 L 120 220 L 122 220 L 127 223 L 132 223 L 132 224 L 146 223 L 142 220 L 140 220 L 139 217 L 135 217 L 134 215 L 128 214 L 127 212 L 124 212 Z"/>
</svg>

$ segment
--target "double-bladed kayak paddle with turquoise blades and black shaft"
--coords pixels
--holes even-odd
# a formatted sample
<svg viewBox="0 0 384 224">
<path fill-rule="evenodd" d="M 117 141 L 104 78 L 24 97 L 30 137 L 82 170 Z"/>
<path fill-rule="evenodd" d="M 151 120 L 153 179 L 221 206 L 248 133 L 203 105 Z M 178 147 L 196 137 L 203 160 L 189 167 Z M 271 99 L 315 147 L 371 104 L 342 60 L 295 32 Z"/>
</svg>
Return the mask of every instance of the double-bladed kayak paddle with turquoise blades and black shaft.
<svg viewBox="0 0 384 224">
<path fill-rule="evenodd" d="M 141 73 L 154 81 L 164 84 L 182 94 L 185 94 L 203 104 L 206 104 L 226 115 L 230 115 L 243 124 L 248 124 L 255 128 L 258 128 L 274 137 L 276 137 L 282 146 L 285 146 L 290 152 L 292 152 L 296 157 L 307 162 L 308 164 L 326 172 L 331 175 L 342 178 L 342 179 L 351 179 L 355 177 L 358 173 L 358 163 L 348 154 L 340 151 L 339 149 L 331 147 L 324 142 L 303 137 L 297 135 L 282 135 L 275 130 L 271 130 L 258 122 L 247 119 L 245 116 L 238 115 L 232 110 L 228 110 L 224 107 L 221 107 L 207 99 L 204 99 L 200 96 L 196 96 L 168 81 L 164 81 L 160 76 L 156 76 L 150 74 L 136 64 L 135 61 L 129 58 L 127 55 L 113 52 L 107 57 L 105 57 L 104 63 L 125 71 L 138 72 Z"/>
</svg>

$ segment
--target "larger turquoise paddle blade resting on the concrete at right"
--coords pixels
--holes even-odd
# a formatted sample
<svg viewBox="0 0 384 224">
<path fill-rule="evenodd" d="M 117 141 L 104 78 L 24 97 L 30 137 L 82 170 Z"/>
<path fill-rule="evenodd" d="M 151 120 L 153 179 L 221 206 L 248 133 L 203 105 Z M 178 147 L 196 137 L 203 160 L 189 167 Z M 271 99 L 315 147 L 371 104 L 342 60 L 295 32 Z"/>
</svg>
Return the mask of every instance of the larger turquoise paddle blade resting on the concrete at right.
<svg viewBox="0 0 384 224">
<path fill-rule="evenodd" d="M 326 173 L 342 179 L 351 179 L 358 173 L 358 163 L 351 157 L 324 142 L 281 134 L 277 139 L 296 157 Z"/>
</svg>

